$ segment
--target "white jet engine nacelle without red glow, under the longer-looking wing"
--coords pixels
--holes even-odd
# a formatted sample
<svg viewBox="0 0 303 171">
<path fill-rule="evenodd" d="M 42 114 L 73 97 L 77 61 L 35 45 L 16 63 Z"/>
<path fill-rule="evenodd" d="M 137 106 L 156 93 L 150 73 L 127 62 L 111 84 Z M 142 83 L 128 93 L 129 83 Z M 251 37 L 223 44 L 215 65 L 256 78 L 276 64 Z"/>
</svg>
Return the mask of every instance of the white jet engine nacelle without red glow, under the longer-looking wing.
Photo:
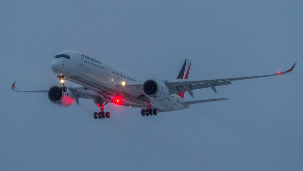
<svg viewBox="0 0 303 171">
<path fill-rule="evenodd" d="M 164 100 L 169 96 L 169 89 L 157 79 L 148 79 L 143 83 L 143 94 L 151 99 Z"/>
</svg>

